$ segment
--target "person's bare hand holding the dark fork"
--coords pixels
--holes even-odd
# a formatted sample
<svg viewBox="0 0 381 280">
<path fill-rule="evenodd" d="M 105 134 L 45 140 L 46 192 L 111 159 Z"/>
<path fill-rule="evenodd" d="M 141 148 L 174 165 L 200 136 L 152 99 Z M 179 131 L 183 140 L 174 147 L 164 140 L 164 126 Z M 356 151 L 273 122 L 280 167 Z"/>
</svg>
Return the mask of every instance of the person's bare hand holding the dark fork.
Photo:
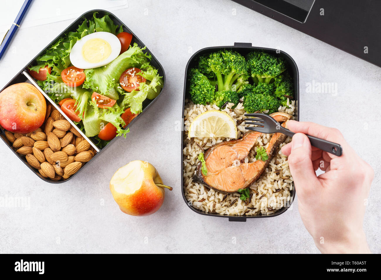
<svg viewBox="0 0 381 280">
<path fill-rule="evenodd" d="M 288 156 L 300 216 L 315 245 L 322 253 L 370 253 L 363 218 L 373 169 L 335 128 L 293 120 L 287 127 L 296 134 L 282 153 Z M 343 155 L 312 147 L 305 134 L 340 144 Z M 325 173 L 316 176 L 319 167 Z"/>
</svg>

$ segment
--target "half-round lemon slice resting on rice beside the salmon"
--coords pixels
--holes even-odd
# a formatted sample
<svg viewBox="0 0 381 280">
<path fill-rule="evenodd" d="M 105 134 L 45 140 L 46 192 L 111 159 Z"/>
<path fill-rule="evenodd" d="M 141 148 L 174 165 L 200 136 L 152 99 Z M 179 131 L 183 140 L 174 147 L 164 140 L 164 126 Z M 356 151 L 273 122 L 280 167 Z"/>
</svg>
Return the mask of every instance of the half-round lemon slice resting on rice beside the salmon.
<svg viewBox="0 0 381 280">
<path fill-rule="evenodd" d="M 193 120 L 188 137 L 237 138 L 237 126 L 226 112 L 211 110 L 203 112 Z"/>
</svg>

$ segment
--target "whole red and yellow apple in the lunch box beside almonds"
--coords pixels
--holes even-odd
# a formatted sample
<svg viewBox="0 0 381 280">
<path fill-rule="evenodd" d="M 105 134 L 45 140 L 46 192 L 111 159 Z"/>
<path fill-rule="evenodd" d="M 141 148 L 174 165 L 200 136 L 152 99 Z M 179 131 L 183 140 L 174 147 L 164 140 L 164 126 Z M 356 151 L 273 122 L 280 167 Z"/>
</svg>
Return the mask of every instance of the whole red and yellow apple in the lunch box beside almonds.
<svg viewBox="0 0 381 280">
<path fill-rule="evenodd" d="M 45 114 L 45 98 L 30 83 L 16 83 L 0 93 L 0 125 L 6 130 L 35 131 L 43 124 Z"/>
</svg>

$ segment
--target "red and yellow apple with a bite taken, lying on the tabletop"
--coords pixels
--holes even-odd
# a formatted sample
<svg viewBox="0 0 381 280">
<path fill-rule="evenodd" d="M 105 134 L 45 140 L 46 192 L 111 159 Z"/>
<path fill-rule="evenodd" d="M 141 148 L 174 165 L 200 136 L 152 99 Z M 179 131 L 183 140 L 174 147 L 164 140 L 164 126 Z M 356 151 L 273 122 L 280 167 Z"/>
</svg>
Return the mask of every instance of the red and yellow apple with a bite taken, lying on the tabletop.
<svg viewBox="0 0 381 280">
<path fill-rule="evenodd" d="M 141 160 L 134 160 L 115 172 L 110 190 L 123 213 L 148 216 L 155 213 L 164 201 L 164 188 L 156 168 Z"/>
</svg>

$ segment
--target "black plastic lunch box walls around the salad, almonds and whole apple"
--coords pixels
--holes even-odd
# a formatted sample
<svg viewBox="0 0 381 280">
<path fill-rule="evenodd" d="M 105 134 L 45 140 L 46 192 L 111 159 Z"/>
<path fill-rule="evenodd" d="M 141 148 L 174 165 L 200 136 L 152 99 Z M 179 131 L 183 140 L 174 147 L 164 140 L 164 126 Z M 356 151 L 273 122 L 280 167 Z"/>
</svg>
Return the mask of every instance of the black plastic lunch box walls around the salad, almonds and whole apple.
<svg viewBox="0 0 381 280">
<path fill-rule="evenodd" d="M 62 31 L 52 42 L 49 43 L 49 45 L 47 45 L 40 53 L 38 53 L 34 59 L 32 59 L 32 61 L 30 61 L 23 69 L 20 70 L 20 72 L 18 72 L 18 74 L 16 74 L 16 76 L 14 76 L 14 78 L 9 82 L 7 83 L 4 88 L 2 88 L 1 91 L 3 91 L 6 87 L 10 86 L 10 85 L 13 85 L 15 83 L 22 83 L 22 82 L 27 82 L 27 78 L 26 76 L 24 76 L 22 74 L 22 72 L 24 70 L 27 69 L 27 66 L 33 64 L 35 62 L 35 60 L 43 53 L 45 53 L 46 49 L 49 48 L 54 42 L 56 42 L 56 40 L 58 40 L 62 35 L 66 34 L 67 32 L 70 32 L 70 31 L 75 31 L 77 28 L 78 28 L 78 25 L 80 25 L 85 19 L 88 19 L 88 18 L 91 18 L 93 16 L 93 14 L 97 12 L 98 13 L 98 17 L 102 17 L 104 15 L 109 15 L 110 19 L 112 19 L 112 21 L 114 21 L 115 24 L 117 25 L 122 25 L 123 26 L 123 31 L 125 32 L 128 32 L 130 34 L 133 35 L 133 38 L 132 38 L 132 41 L 131 41 L 131 45 L 133 43 L 137 43 L 138 46 L 140 47 L 144 47 L 145 45 L 141 42 L 141 40 L 139 40 L 139 38 L 128 28 L 126 27 L 125 24 L 123 24 L 122 21 L 120 21 L 120 19 L 118 19 L 114 14 L 108 12 L 108 11 L 105 11 L 105 10 L 91 10 L 91 11 L 88 11 L 84 14 L 82 14 L 82 16 L 80 16 L 79 18 L 77 18 L 72 24 L 70 24 L 69 27 L 67 27 L 64 31 Z M 155 56 L 148 50 L 148 48 L 146 48 L 146 50 L 144 50 L 145 52 L 148 52 L 152 55 L 152 59 L 151 59 L 151 64 L 152 66 L 154 66 L 156 69 L 158 69 L 158 72 L 160 74 L 160 76 L 163 76 L 163 87 L 164 87 L 164 84 L 165 84 L 165 73 L 164 73 L 164 69 L 163 67 L 161 66 L 161 64 L 157 61 L 157 59 L 155 58 Z M 155 102 L 155 100 L 157 98 L 159 98 L 159 96 L 161 95 L 161 92 L 160 94 L 155 98 L 155 99 L 152 99 L 152 100 L 149 100 L 149 99 L 146 99 L 144 102 L 143 102 L 143 110 L 142 112 L 137 116 L 135 117 L 132 122 L 135 122 L 142 114 L 144 114 L 144 112 L 146 112 L 146 110 L 148 109 L 148 107 L 150 107 L 150 105 Z M 50 102 L 50 103 L 54 103 L 53 100 L 51 100 L 49 98 L 49 100 L 46 100 L 46 102 Z M 128 135 L 128 134 L 127 134 Z M 19 155 L 16 153 L 16 149 L 12 147 L 12 143 L 10 143 L 10 141 L 8 141 L 8 139 L 6 139 L 5 137 L 5 133 L 3 130 L 0 130 L 0 136 L 1 138 L 3 139 L 3 141 L 5 142 L 5 144 L 10 147 L 11 150 L 13 150 L 14 154 L 22 161 L 24 162 L 29 168 L 30 170 L 32 170 L 38 177 L 40 177 L 41 179 L 43 179 L 44 181 L 46 182 L 50 182 L 50 183 L 54 183 L 54 184 L 59 184 L 59 183 L 62 183 L 62 182 L 66 182 L 68 181 L 69 179 L 73 178 L 76 174 L 78 174 L 83 168 L 81 168 L 77 173 L 73 174 L 72 176 L 70 176 L 68 179 L 66 180 L 62 180 L 62 181 L 54 181 L 50 178 L 44 178 L 43 176 L 41 176 L 41 174 L 35 169 L 33 168 L 32 166 L 29 165 L 29 163 L 26 161 L 26 158 L 24 155 Z M 109 147 L 111 142 L 115 141 L 116 138 L 114 138 L 113 140 L 111 140 L 106 147 Z M 91 160 L 93 160 L 95 157 L 97 157 L 106 147 L 103 147 L 100 152 L 98 152 L 96 155 L 94 155 L 93 158 L 91 158 Z"/>
</svg>

